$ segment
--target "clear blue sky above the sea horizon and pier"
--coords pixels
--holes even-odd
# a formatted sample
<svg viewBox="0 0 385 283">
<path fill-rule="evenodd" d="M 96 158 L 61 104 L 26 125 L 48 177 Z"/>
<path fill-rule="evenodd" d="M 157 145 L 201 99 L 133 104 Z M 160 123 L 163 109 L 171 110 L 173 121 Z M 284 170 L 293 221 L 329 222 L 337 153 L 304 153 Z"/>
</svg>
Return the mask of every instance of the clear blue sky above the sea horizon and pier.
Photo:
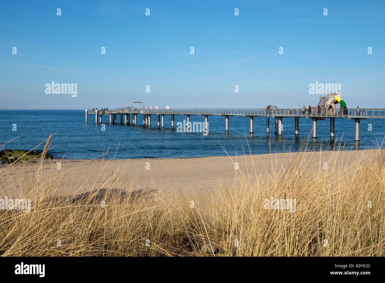
<svg viewBox="0 0 385 283">
<path fill-rule="evenodd" d="M 385 108 L 384 14 L 383 1 L 7 1 L 0 109 L 264 108 L 266 90 L 296 108 L 317 104 L 316 81 L 340 83 L 348 108 Z M 51 81 L 77 97 L 46 94 Z"/>
</svg>

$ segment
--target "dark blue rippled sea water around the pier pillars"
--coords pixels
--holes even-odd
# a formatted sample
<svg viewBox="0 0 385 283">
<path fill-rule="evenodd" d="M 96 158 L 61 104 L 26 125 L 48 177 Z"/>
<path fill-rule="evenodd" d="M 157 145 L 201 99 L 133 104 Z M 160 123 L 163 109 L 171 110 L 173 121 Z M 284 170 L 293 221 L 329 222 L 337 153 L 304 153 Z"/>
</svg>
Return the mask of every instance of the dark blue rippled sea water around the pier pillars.
<svg viewBox="0 0 385 283">
<path fill-rule="evenodd" d="M 157 117 L 152 115 L 152 127 L 142 126 L 142 115 L 137 115 L 138 126 L 109 124 L 109 116 L 103 115 L 105 131 L 95 124 L 95 116 L 88 116 L 85 124 L 84 110 L 0 110 L 0 143 L 9 142 L 4 148 L 32 149 L 47 139 L 51 139 L 49 153 L 70 159 L 101 158 L 169 158 L 204 157 L 229 155 L 263 154 L 269 152 L 295 152 L 309 134 L 312 120 L 300 118 L 300 136 L 294 136 L 294 118 L 283 118 L 283 135 L 274 133 L 275 119 L 270 117 L 270 135 L 266 134 L 266 117 L 254 117 L 254 135 L 249 134 L 249 118 L 234 116 L 229 120 L 229 133 L 225 134 L 225 118 L 209 116 L 209 134 L 177 132 L 177 122 L 186 116 L 175 115 L 175 129 L 171 129 L 171 116 L 164 116 L 164 129 L 157 128 Z M 132 123 L 132 116 L 130 117 Z M 203 122 L 204 116 L 190 116 L 190 121 Z M 12 131 L 16 124 L 17 131 Z M 372 131 L 368 131 L 372 124 Z M 354 120 L 335 119 L 335 147 L 343 144 L 346 150 L 378 148 L 385 136 L 385 128 L 380 119 L 361 120 L 360 144 L 354 141 Z M 246 136 L 246 137 L 245 137 Z M 330 120 L 318 121 L 317 141 L 310 138 L 310 149 L 330 149 Z M 250 147 L 250 149 L 249 149 Z M 42 146 L 37 149 L 43 149 Z M 223 149 L 224 148 L 224 149 Z"/>
</svg>

